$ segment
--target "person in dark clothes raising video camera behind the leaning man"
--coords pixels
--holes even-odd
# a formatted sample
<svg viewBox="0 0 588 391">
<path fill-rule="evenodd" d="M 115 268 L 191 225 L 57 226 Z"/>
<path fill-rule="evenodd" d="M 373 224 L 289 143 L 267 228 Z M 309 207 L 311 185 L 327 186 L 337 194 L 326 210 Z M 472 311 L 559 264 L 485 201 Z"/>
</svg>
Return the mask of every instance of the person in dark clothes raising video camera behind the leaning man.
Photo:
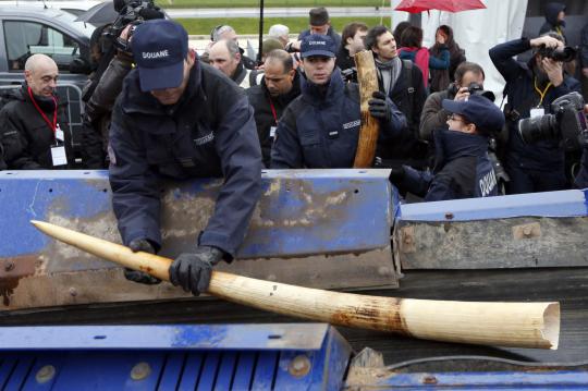
<svg viewBox="0 0 588 391">
<path fill-rule="evenodd" d="M 119 17 L 105 34 L 113 46 L 110 56 L 100 59 L 97 72 L 85 94 L 86 101 L 83 130 L 83 160 L 89 169 L 103 169 L 108 146 L 108 129 L 114 100 L 122 90 L 124 77 L 131 72 L 133 57 L 131 54 L 130 39 L 134 28 L 147 20 L 163 19 L 164 14 L 152 1 L 137 2 L 118 0 L 114 9 Z M 96 137 L 98 135 L 98 137 Z M 96 142 L 96 139 L 100 142 Z"/>
</svg>

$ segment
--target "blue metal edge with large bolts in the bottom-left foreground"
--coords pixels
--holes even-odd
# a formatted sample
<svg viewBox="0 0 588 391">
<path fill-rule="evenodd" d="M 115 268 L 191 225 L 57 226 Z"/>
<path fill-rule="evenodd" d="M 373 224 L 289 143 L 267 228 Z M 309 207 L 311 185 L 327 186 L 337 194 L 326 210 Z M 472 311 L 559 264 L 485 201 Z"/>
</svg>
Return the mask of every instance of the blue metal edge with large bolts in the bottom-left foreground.
<svg viewBox="0 0 588 391">
<path fill-rule="evenodd" d="M 327 325 L 100 329 L 1 329 L 0 390 L 339 390 L 351 355 Z"/>
</svg>

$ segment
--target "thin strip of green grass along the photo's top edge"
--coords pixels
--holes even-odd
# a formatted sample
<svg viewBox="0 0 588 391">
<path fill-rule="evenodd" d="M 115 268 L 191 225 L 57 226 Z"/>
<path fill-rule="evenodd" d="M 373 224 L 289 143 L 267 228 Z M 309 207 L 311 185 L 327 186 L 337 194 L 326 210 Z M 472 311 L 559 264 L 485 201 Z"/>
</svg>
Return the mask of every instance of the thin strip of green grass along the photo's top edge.
<svg viewBox="0 0 588 391">
<path fill-rule="evenodd" d="M 259 7 L 258 0 L 156 0 L 162 8 L 250 8 Z M 382 0 L 265 0 L 265 7 L 383 7 Z"/>
</svg>

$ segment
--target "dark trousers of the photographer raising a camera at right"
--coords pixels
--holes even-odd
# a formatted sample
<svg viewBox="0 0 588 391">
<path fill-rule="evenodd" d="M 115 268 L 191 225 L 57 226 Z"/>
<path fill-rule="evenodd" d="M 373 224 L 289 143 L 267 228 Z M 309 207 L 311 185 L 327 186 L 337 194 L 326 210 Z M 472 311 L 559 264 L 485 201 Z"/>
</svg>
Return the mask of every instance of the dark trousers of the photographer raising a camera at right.
<svg viewBox="0 0 588 391">
<path fill-rule="evenodd" d="M 507 194 L 555 192 L 567 188 L 564 170 L 540 171 L 507 167 L 511 181 L 506 184 Z"/>
</svg>

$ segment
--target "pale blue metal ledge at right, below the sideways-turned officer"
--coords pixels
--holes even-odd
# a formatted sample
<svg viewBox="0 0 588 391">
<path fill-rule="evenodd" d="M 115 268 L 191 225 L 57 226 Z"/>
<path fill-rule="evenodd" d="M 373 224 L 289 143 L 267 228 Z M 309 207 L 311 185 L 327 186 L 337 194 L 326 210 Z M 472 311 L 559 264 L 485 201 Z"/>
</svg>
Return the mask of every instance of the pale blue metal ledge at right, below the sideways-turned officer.
<svg viewBox="0 0 588 391">
<path fill-rule="evenodd" d="M 588 190 L 405 204 L 396 213 L 397 219 L 405 221 L 469 221 L 523 216 L 588 216 Z"/>
</svg>

